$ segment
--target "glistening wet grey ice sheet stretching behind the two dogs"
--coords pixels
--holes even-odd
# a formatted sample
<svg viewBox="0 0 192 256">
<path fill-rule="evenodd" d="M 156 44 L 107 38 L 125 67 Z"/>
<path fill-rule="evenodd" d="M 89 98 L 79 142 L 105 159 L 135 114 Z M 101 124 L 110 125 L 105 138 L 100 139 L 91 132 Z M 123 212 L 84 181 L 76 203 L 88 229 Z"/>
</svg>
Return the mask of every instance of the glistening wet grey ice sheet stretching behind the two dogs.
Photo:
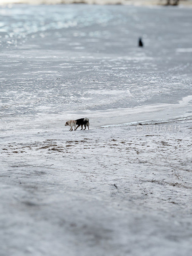
<svg viewBox="0 0 192 256">
<path fill-rule="evenodd" d="M 0 14 L 5 120 L 192 95 L 190 8 L 15 5 Z"/>
</svg>

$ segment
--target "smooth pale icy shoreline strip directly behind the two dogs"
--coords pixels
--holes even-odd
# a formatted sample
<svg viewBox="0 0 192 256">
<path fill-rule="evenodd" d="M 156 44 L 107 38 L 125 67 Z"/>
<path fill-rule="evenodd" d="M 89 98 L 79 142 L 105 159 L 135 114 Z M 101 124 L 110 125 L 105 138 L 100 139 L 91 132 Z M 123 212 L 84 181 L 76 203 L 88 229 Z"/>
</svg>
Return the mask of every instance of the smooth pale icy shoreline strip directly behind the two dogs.
<svg viewBox="0 0 192 256">
<path fill-rule="evenodd" d="M 161 124 L 172 123 L 180 120 L 191 120 L 191 100 L 192 96 L 186 96 L 177 104 L 155 104 L 140 106 L 135 108 L 108 109 L 103 111 L 67 111 L 59 114 L 37 115 L 1 118 L 0 131 L 15 130 L 50 130 L 53 127 L 64 129 L 67 120 L 82 118 L 87 116 L 90 119 L 91 128 L 127 126 L 135 124 Z M 145 119 L 144 119 L 145 118 Z"/>
</svg>

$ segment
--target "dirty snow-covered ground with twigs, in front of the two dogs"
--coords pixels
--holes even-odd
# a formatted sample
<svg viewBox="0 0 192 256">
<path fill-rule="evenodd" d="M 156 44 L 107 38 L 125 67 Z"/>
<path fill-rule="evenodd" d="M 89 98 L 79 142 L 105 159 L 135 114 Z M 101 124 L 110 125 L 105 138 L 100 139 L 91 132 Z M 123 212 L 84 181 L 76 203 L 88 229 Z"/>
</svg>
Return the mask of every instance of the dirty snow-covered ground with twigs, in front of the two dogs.
<svg viewBox="0 0 192 256">
<path fill-rule="evenodd" d="M 1 255 L 190 255 L 192 122 L 143 127 L 4 134 Z"/>
</svg>

